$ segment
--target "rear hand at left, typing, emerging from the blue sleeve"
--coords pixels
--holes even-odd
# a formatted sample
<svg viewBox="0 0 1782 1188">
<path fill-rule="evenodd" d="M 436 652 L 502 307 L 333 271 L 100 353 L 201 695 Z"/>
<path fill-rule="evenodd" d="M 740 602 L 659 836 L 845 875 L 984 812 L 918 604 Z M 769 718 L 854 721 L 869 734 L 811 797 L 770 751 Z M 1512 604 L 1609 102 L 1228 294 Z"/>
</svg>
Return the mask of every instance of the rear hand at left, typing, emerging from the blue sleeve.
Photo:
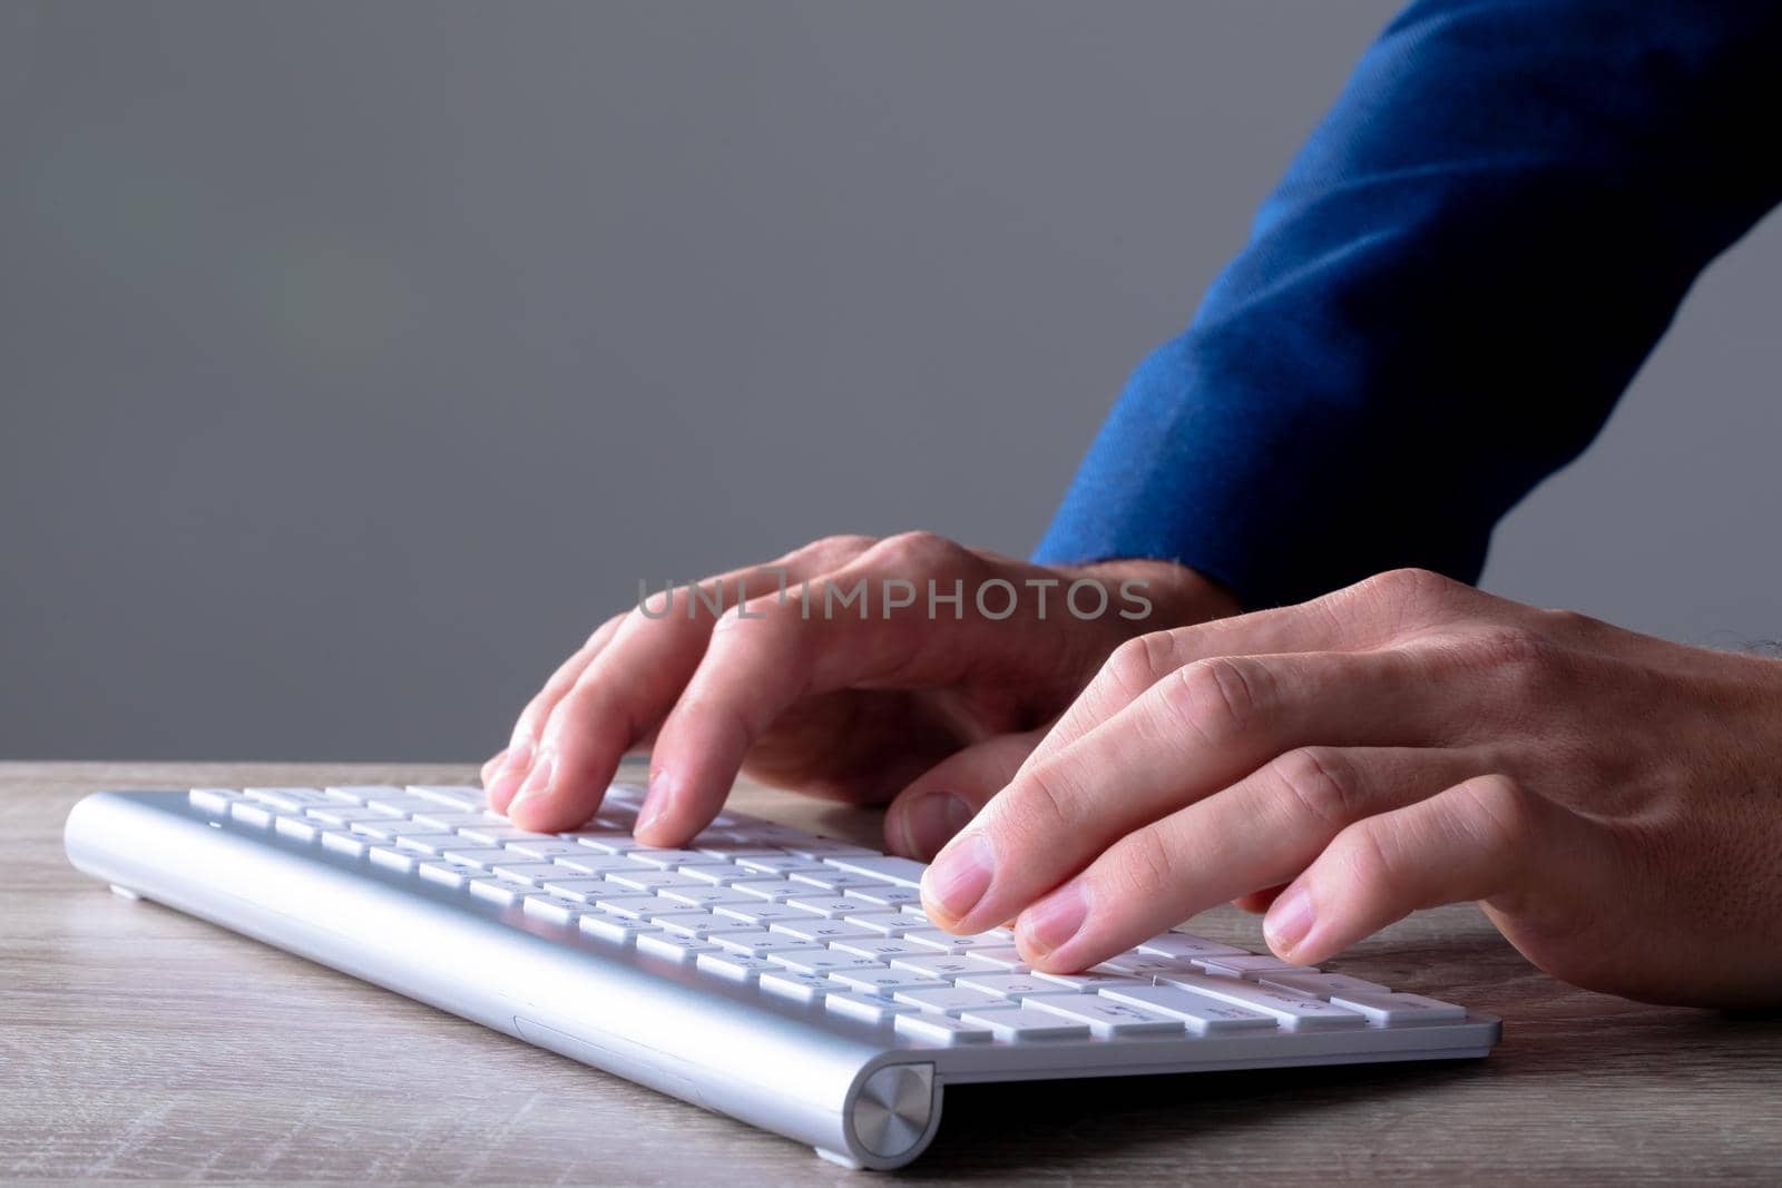
<svg viewBox="0 0 1782 1188">
<path fill-rule="evenodd" d="M 1238 609 L 1167 561 L 1039 566 L 927 533 L 832 536 L 697 590 L 675 588 L 663 613 L 658 588 L 551 675 L 483 768 L 497 810 L 524 828 L 576 828 L 620 757 L 652 746 L 640 841 L 690 839 L 745 769 L 818 796 L 893 800 L 887 850 L 928 858 L 1119 643 Z"/>
</svg>

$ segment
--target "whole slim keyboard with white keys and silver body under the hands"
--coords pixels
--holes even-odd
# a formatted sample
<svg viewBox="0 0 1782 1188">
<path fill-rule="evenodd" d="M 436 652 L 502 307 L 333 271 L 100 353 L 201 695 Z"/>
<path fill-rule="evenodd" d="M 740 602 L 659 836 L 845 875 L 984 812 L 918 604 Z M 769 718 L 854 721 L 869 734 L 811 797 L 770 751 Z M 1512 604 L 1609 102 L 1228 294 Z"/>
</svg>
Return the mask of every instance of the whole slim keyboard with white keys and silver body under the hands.
<svg viewBox="0 0 1782 1188">
<path fill-rule="evenodd" d="M 927 1145 L 944 1083 L 1481 1056 L 1499 1035 L 1189 932 L 1037 972 L 1005 928 L 936 928 L 916 862 L 736 812 L 652 850 L 640 801 L 615 784 L 583 830 L 540 835 L 476 787 L 100 793 L 68 848 L 132 894 L 866 1167 Z"/>
</svg>

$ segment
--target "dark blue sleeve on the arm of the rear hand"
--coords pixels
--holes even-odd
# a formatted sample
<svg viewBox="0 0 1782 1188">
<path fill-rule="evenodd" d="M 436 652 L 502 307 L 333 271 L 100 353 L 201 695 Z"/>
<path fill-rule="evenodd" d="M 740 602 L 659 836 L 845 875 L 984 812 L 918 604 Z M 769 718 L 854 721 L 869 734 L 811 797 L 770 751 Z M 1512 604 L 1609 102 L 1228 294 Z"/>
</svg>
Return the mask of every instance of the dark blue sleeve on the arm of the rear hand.
<svg viewBox="0 0 1782 1188">
<path fill-rule="evenodd" d="M 1477 581 L 1782 196 L 1778 84 L 1777 4 L 1413 4 L 1137 367 L 1035 559 L 1174 559 L 1251 607 L 1404 565 Z"/>
</svg>

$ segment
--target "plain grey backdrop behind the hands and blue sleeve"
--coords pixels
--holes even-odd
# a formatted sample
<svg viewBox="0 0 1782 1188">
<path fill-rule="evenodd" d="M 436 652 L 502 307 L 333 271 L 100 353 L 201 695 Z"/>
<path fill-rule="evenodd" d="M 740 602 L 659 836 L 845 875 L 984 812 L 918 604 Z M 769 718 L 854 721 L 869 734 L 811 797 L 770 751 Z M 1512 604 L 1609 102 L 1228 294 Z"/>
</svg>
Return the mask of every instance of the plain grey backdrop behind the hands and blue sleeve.
<svg viewBox="0 0 1782 1188">
<path fill-rule="evenodd" d="M 1030 549 L 1394 7 L 0 0 L 0 755 L 474 759 L 640 577 Z M 1782 632 L 1778 276 L 1490 588 Z"/>
</svg>

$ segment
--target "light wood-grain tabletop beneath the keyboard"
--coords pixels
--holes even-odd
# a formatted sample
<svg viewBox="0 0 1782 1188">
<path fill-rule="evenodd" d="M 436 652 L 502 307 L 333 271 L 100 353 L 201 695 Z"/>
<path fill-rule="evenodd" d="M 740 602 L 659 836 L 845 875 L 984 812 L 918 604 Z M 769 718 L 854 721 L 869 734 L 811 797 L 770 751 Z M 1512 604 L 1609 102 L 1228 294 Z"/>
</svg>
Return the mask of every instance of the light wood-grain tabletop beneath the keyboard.
<svg viewBox="0 0 1782 1188">
<path fill-rule="evenodd" d="M 465 782 L 444 766 L 0 764 L 0 1179 L 732 1184 L 870 1172 L 77 875 L 102 787 Z M 866 810 L 747 812 L 877 841 Z M 1260 948 L 1255 917 L 1210 937 Z M 1483 1062 L 955 1086 L 900 1179 L 1123 1184 L 1782 1177 L 1782 1015 L 1641 1006 L 1529 967 L 1474 908 L 1335 969 L 1504 1017 Z"/>
</svg>

